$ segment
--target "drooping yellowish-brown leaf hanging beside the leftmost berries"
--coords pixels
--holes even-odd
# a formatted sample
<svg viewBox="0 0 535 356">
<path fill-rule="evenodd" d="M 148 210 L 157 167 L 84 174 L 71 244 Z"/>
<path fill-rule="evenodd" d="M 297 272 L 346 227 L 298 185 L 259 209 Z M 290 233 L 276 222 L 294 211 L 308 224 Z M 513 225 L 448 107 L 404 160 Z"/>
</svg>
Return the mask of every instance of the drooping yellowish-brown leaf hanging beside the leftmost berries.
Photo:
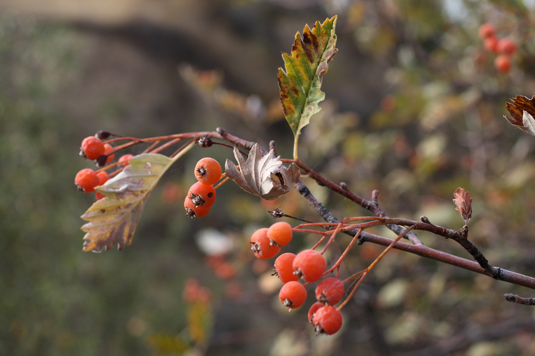
<svg viewBox="0 0 535 356">
<path fill-rule="evenodd" d="M 188 145 L 173 158 L 157 153 L 135 156 L 129 160 L 131 165 L 121 173 L 96 187 L 95 190 L 105 198 L 97 200 L 80 216 L 89 221 L 81 227 L 86 232 L 83 251 L 102 252 L 114 243 L 123 250 L 130 245 L 150 192 L 173 162 L 193 145 Z"/>
</svg>

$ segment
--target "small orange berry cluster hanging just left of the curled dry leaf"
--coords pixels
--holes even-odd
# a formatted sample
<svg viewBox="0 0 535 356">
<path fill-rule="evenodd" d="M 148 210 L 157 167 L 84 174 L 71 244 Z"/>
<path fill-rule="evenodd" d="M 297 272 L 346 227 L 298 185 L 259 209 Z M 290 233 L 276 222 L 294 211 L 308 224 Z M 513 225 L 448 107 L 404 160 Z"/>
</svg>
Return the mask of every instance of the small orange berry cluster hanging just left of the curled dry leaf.
<svg viewBox="0 0 535 356">
<path fill-rule="evenodd" d="M 197 183 L 189 188 L 184 200 L 186 215 L 193 218 L 202 218 L 210 211 L 216 199 L 216 189 L 213 184 L 221 178 L 221 165 L 213 158 L 205 157 L 195 165 Z"/>
</svg>

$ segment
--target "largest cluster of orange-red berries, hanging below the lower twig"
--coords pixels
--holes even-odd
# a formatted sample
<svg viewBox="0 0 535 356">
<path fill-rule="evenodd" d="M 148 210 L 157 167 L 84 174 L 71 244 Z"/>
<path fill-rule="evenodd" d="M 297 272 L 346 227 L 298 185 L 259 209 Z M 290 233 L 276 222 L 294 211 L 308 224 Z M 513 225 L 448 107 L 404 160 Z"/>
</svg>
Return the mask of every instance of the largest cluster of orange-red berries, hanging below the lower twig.
<svg viewBox="0 0 535 356">
<path fill-rule="evenodd" d="M 257 258 L 276 256 L 281 247 L 292 240 L 292 226 L 287 222 L 276 222 L 269 228 L 261 228 L 251 236 L 251 250 Z M 284 283 L 279 300 L 289 309 L 299 308 L 307 299 L 306 285 L 318 281 L 324 274 L 327 261 L 322 253 L 303 250 L 297 254 L 282 253 L 274 263 L 274 273 Z M 305 283 L 300 283 L 299 280 Z M 332 335 L 342 327 L 342 314 L 333 305 L 344 295 L 343 282 L 338 278 L 326 278 L 316 287 L 316 299 L 308 313 L 308 319 L 317 334 Z"/>
</svg>

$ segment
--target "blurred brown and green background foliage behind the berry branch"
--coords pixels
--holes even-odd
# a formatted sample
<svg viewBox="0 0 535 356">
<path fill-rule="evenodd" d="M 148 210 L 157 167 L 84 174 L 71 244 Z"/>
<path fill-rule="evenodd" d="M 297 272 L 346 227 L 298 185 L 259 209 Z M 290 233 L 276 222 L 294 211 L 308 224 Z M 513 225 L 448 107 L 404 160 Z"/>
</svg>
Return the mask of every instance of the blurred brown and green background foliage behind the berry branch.
<svg viewBox="0 0 535 356">
<path fill-rule="evenodd" d="M 503 298 L 530 290 L 396 251 L 343 309 L 342 331 L 315 337 L 308 306 L 288 314 L 272 261 L 248 251 L 250 234 L 272 222 L 266 210 L 318 220 L 295 191 L 261 202 L 226 184 L 207 218 L 184 216 L 195 162 L 223 163 L 230 150 L 197 149 L 177 162 L 120 253 L 82 252 L 79 215 L 94 196 L 73 185 L 90 166 L 80 142 L 101 129 L 147 137 L 219 126 L 264 146 L 276 140 L 291 156 L 280 52 L 305 23 L 338 14 L 340 50 L 300 158 L 365 198 L 379 189 L 390 216 L 425 214 L 453 229 L 462 226 L 451 200 L 462 186 L 474 198 L 472 241 L 491 264 L 534 275 L 535 141 L 502 118 L 509 97 L 535 95 L 534 6 L 0 1 L 0 354 L 534 354 L 533 309 Z M 518 46 L 507 74 L 478 37 L 484 22 Z M 364 213 L 305 183 L 335 215 Z M 452 242 L 418 235 L 468 258 Z M 331 261 L 347 242 L 339 240 Z M 312 241 L 299 236 L 287 250 Z M 380 251 L 355 247 L 342 275 Z"/>
</svg>

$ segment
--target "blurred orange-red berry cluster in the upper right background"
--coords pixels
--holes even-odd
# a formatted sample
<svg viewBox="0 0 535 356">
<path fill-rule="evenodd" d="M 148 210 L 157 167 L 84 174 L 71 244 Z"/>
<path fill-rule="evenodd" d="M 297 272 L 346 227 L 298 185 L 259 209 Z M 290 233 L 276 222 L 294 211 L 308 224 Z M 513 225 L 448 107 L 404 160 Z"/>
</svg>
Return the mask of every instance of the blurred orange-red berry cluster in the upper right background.
<svg viewBox="0 0 535 356">
<path fill-rule="evenodd" d="M 511 56 L 516 52 L 516 44 L 510 38 L 499 38 L 496 29 L 491 24 L 483 24 L 479 27 L 479 37 L 484 41 L 483 45 L 488 52 L 496 53 L 494 66 L 501 73 L 507 73 L 511 69 Z"/>
</svg>

